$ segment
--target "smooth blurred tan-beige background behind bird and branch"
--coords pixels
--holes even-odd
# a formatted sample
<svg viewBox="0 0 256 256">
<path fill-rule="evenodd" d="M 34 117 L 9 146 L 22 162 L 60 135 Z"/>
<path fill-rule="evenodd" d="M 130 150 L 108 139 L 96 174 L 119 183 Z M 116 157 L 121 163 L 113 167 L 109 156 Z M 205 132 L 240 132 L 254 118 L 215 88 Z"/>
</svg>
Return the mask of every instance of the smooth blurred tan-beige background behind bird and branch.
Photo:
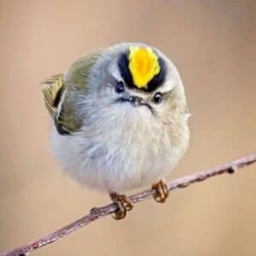
<svg viewBox="0 0 256 256">
<path fill-rule="evenodd" d="M 0 251 L 82 217 L 108 195 L 61 173 L 41 84 L 120 41 L 160 48 L 182 75 L 191 143 L 170 179 L 255 152 L 255 1 L 0 2 Z M 253 255 L 256 166 L 103 218 L 35 255 Z"/>
</svg>

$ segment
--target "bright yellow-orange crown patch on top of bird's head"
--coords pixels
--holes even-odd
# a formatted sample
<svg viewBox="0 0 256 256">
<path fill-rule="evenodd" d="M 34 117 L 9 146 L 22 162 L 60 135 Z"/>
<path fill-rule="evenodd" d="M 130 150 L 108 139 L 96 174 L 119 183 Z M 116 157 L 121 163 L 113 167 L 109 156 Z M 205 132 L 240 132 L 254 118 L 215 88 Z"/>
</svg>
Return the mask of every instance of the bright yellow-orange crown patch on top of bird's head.
<svg viewBox="0 0 256 256">
<path fill-rule="evenodd" d="M 149 47 L 130 47 L 129 69 L 137 88 L 145 88 L 160 73 L 158 56 Z"/>
</svg>

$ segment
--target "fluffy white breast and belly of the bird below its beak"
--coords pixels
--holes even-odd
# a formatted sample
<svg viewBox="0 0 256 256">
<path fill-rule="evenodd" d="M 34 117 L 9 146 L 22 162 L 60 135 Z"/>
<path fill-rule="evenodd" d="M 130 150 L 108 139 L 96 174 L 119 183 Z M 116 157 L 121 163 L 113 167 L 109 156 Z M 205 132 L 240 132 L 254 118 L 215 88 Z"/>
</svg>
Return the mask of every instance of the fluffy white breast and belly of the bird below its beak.
<svg viewBox="0 0 256 256">
<path fill-rule="evenodd" d="M 144 113 L 120 116 L 102 119 L 100 125 L 90 125 L 73 136 L 61 136 L 54 128 L 55 157 L 79 183 L 122 192 L 156 183 L 176 166 L 184 149 L 172 144 L 168 129 Z M 188 142 L 183 143 L 186 148 Z"/>
</svg>

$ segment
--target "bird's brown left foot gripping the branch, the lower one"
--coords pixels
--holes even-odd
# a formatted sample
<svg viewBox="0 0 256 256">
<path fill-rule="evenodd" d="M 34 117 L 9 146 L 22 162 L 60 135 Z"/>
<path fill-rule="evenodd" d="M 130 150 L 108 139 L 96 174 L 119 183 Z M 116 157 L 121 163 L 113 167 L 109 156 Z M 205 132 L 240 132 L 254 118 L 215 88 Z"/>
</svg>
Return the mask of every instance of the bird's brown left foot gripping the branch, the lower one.
<svg viewBox="0 0 256 256">
<path fill-rule="evenodd" d="M 111 200 L 117 205 L 118 209 L 113 213 L 114 219 L 125 218 L 126 212 L 131 211 L 133 208 L 133 202 L 126 195 L 119 195 L 116 192 L 109 192 Z"/>
</svg>

